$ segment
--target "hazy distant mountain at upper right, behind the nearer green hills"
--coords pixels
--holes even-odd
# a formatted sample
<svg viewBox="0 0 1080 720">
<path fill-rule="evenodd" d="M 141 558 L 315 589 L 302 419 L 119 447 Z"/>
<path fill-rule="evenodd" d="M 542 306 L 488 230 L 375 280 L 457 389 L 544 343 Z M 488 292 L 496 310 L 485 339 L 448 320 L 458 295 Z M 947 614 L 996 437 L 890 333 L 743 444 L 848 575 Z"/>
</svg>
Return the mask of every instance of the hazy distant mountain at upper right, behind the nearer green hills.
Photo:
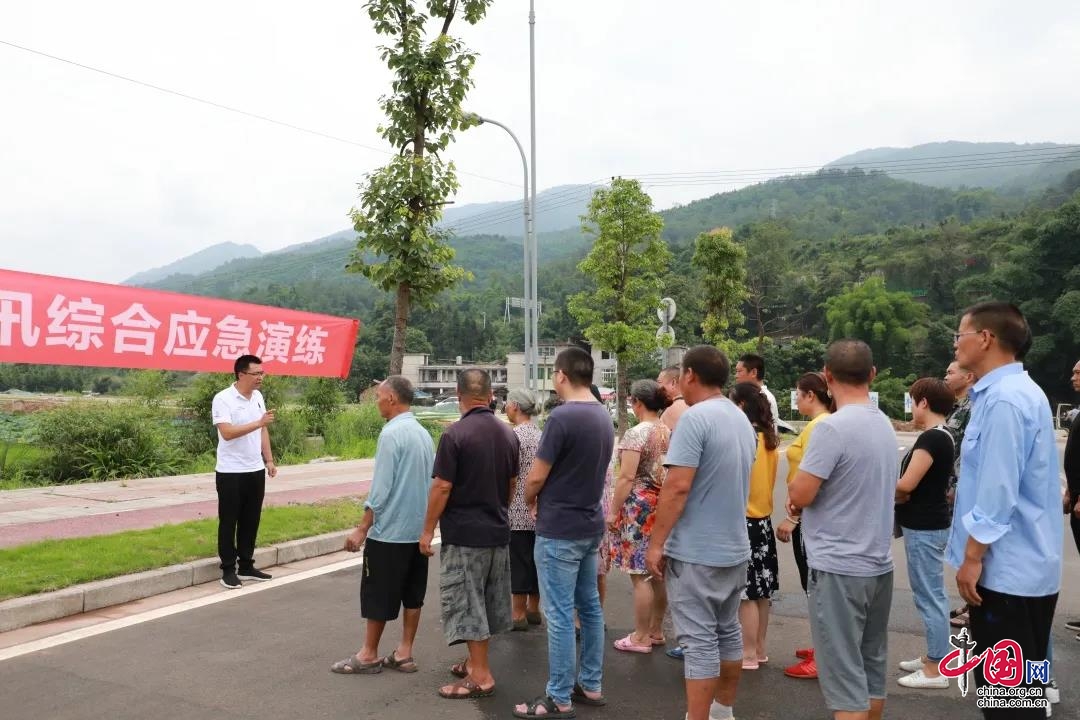
<svg viewBox="0 0 1080 720">
<path fill-rule="evenodd" d="M 990 188 L 1032 194 L 1080 168 L 1080 146 L 1057 142 L 928 142 L 860 150 L 825 167 L 879 169 L 939 188 Z"/>
</svg>

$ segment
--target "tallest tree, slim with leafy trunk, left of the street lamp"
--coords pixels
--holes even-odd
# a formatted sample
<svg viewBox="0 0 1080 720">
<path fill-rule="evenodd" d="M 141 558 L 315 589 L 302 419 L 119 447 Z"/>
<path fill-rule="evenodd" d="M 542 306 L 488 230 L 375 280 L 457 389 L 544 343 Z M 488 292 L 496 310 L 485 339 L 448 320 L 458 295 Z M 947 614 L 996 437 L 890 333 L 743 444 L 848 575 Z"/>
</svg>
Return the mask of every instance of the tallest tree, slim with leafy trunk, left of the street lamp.
<svg viewBox="0 0 1080 720">
<path fill-rule="evenodd" d="M 455 132 L 469 126 L 461 103 L 473 85 L 476 63 L 475 53 L 449 29 L 459 13 L 475 25 L 490 2 L 427 0 L 421 6 L 414 0 L 370 0 L 365 5 L 375 31 L 392 40 L 379 47 L 394 74 L 392 92 L 379 101 L 387 117 L 379 134 L 399 152 L 361 185 L 360 206 L 351 210 L 360 237 L 348 270 L 395 294 L 391 375 L 402 369 L 413 304 L 428 305 L 470 276 L 453 264 L 449 232 L 435 227 L 447 198 L 458 189 L 454 163 L 441 153 Z M 441 27 L 429 41 L 432 21 Z"/>
</svg>

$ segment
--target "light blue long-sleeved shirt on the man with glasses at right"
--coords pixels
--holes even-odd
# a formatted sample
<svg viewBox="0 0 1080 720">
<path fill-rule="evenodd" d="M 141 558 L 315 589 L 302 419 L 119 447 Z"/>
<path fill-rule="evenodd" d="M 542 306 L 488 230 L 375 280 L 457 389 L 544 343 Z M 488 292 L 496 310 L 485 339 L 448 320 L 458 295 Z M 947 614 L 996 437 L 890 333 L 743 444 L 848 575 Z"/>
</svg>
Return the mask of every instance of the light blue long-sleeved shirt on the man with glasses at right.
<svg viewBox="0 0 1080 720">
<path fill-rule="evenodd" d="M 946 560 L 963 563 L 968 538 L 989 545 L 978 584 L 1022 597 L 1062 585 L 1062 494 L 1050 403 L 1020 363 L 971 389 Z"/>
</svg>

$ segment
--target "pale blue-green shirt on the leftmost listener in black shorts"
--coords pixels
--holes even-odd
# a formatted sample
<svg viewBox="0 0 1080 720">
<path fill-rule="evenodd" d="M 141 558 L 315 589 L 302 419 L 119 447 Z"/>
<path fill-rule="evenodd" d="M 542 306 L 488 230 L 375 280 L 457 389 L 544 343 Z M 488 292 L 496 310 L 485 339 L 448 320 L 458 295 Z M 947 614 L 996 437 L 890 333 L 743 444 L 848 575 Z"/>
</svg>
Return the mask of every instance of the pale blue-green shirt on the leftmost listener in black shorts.
<svg viewBox="0 0 1080 720">
<path fill-rule="evenodd" d="M 379 433 L 375 474 L 364 501 L 375 514 L 367 536 L 384 543 L 415 543 L 423 532 L 435 448 L 411 412 L 392 418 Z"/>
</svg>

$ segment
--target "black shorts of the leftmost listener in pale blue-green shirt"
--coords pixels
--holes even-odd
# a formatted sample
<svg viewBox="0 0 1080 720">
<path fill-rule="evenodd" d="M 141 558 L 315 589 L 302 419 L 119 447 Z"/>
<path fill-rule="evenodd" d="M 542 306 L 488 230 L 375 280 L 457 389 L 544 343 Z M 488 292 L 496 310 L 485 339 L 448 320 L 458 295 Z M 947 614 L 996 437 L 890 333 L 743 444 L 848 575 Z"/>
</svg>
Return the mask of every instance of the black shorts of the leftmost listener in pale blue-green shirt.
<svg viewBox="0 0 1080 720">
<path fill-rule="evenodd" d="M 364 543 L 360 614 L 366 620 L 397 620 L 402 608 L 423 607 L 428 592 L 428 556 L 420 543 Z"/>
</svg>

